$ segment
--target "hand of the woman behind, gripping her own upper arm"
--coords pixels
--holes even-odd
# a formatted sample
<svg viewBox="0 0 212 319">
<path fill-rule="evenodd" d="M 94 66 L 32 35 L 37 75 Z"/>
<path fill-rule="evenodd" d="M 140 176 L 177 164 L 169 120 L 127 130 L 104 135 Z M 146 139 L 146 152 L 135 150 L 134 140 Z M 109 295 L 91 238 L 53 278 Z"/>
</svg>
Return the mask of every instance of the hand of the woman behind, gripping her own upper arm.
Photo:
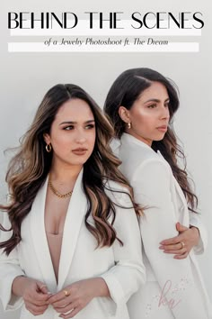
<svg viewBox="0 0 212 319">
<path fill-rule="evenodd" d="M 181 223 L 176 223 L 176 229 L 179 235 L 163 242 L 160 242 L 160 250 L 165 253 L 173 254 L 176 260 L 186 258 L 191 249 L 199 242 L 199 230 L 196 227 L 185 227 Z"/>
</svg>

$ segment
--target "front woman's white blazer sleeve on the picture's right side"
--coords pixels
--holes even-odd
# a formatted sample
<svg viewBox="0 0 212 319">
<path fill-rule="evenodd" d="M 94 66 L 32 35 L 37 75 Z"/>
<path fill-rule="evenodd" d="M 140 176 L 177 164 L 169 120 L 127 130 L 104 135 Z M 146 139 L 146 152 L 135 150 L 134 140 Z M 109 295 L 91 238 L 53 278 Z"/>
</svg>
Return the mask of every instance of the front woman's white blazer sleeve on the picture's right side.
<svg viewBox="0 0 212 319">
<path fill-rule="evenodd" d="M 126 194 L 120 194 L 119 205 L 132 207 Z M 110 296 L 117 305 L 117 309 L 126 307 L 128 298 L 134 294 L 146 280 L 145 267 L 142 261 L 141 240 L 137 216 L 132 208 L 116 206 L 114 228 L 118 241 L 113 243 L 115 266 L 101 275 L 110 290 Z"/>
</svg>

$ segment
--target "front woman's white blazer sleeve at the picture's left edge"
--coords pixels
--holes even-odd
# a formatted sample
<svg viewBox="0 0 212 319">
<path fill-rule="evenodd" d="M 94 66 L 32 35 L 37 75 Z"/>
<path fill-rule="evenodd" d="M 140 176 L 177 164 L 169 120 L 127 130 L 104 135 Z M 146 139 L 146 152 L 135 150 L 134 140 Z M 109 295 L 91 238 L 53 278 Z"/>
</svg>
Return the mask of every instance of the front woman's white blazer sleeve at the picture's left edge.
<svg viewBox="0 0 212 319">
<path fill-rule="evenodd" d="M 5 229 L 9 229 L 11 224 L 6 213 L 4 215 L 3 225 Z M 12 232 L 0 231 L 0 242 L 8 240 Z M 4 250 L 0 250 L 0 298 L 2 300 L 4 311 L 15 310 L 22 305 L 22 297 L 14 296 L 12 293 L 13 279 L 18 276 L 24 276 L 24 272 L 20 267 L 17 249 L 6 256 Z"/>
</svg>

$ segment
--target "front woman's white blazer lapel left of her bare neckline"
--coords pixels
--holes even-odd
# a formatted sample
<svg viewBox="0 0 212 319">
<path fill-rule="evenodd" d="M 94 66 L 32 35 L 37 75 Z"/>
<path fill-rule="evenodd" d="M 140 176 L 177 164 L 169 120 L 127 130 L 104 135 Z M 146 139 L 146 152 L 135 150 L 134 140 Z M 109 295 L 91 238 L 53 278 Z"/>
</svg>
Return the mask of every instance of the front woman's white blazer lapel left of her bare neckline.
<svg viewBox="0 0 212 319">
<path fill-rule="evenodd" d="M 31 206 L 31 237 L 34 244 L 34 251 L 40 264 L 40 272 L 42 273 L 45 283 L 48 285 L 50 291 L 56 291 L 57 281 L 50 257 L 44 223 L 47 187 L 48 178 L 45 184 L 40 188 Z"/>
</svg>

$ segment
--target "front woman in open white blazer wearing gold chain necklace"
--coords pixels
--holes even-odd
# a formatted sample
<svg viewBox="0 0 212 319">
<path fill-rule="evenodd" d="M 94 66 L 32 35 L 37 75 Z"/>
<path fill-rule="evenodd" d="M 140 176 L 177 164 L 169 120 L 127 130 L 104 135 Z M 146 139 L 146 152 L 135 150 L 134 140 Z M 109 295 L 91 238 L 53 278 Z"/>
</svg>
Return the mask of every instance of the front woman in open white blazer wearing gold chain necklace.
<svg viewBox="0 0 212 319">
<path fill-rule="evenodd" d="M 128 318 L 126 302 L 145 271 L 139 208 L 110 151 L 112 136 L 81 87 L 57 85 L 44 96 L 6 175 L 4 310 L 22 305 L 22 319 Z"/>
</svg>

